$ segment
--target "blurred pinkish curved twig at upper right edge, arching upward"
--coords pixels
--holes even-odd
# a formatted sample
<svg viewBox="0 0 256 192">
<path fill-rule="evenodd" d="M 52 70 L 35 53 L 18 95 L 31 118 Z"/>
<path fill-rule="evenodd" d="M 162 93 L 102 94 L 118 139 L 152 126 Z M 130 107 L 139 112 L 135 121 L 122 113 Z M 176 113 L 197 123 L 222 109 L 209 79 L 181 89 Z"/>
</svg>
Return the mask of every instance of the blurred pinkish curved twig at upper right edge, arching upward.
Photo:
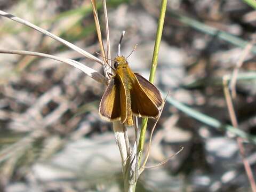
<svg viewBox="0 0 256 192">
<path fill-rule="evenodd" d="M 245 49 L 243 50 L 243 52 L 241 54 L 241 57 L 239 57 L 239 60 L 236 63 L 236 67 L 233 71 L 232 78 L 231 78 L 231 81 L 229 84 L 229 87 L 231 89 L 232 98 L 236 97 L 236 79 L 238 76 L 238 71 L 242 67 L 247 54 L 249 54 L 250 51 L 252 50 L 252 47 L 253 47 L 253 44 L 255 43 L 255 41 L 256 41 L 256 38 L 253 38 L 252 41 L 246 45 Z"/>
</svg>

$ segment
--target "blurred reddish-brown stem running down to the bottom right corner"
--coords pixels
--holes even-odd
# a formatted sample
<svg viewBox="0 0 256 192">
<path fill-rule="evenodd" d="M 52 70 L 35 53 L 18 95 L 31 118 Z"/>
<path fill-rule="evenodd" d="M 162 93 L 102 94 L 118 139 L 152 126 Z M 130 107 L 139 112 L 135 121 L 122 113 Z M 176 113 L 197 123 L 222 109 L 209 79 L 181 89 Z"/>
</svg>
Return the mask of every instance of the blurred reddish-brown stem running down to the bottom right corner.
<svg viewBox="0 0 256 192">
<path fill-rule="evenodd" d="M 232 102 L 232 99 L 231 99 L 230 92 L 228 90 L 227 81 L 228 81 L 228 78 L 226 76 L 223 76 L 223 89 L 224 89 L 224 93 L 225 93 L 225 99 L 226 99 L 226 102 L 227 102 L 228 112 L 229 112 L 229 116 L 230 116 L 230 119 L 231 119 L 231 123 L 234 127 L 238 127 L 233 102 Z M 251 170 L 251 166 L 250 166 L 250 163 L 249 163 L 249 161 L 247 160 L 247 158 L 245 156 L 245 151 L 244 151 L 244 146 L 243 146 L 243 139 L 237 137 L 236 140 L 237 140 L 237 145 L 238 145 L 238 148 L 239 148 L 239 152 L 240 152 L 240 154 L 242 156 L 242 159 L 243 159 L 243 164 L 244 164 L 244 168 L 245 168 L 247 177 L 248 177 L 248 179 L 250 181 L 250 184 L 251 184 L 252 191 L 256 192 L 256 184 L 255 184 L 255 180 L 253 178 L 253 173 L 252 173 L 252 170 Z"/>
</svg>

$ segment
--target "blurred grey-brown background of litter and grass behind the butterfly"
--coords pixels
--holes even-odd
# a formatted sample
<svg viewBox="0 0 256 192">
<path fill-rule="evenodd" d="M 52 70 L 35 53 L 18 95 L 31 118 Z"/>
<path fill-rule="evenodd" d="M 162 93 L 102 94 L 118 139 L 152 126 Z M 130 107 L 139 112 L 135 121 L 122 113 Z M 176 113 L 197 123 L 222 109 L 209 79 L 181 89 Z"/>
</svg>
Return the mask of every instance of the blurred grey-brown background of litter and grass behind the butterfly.
<svg viewBox="0 0 256 192">
<path fill-rule="evenodd" d="M 128 61 L 146 78 L 160 5 L 153 0 L 107 1 L 111 57 L 126 30 L 121 52 L 127 56 L 138 44 Z M 9 0 L 0 1 L 0 9 L 90 53 L 100 51 L 89 0 Z M 98 11 L 103 24 L 101 1 Z M 75 59 L 103 74 L 98 63 L 35 30 L 4 17 L 0 23 L 1 49 Z M 155 84 L 163 95 L 171 91 L 172 101 L 191 113 L 166 102 L 148 165 L 184 149 L 164 165 L 147 169 L 137 191 L 251 191 L 234 129 L 227 131 L 231 122 L 222 77 L 233 73 L 255 26 L 256 11 L 241 0 L 168 2 Z M 234 100 L 239 129 L 250 138 L 243 144 L 254 177 L 255 53 L 256 47 L 247 51 Z M 98 115 L 105 86 L 50 59 L 1 54 L 0 63 L 0 191 L 122 191 L 121 157 L 111 123 Z M 205 115 L 199 121 L 196 111 Z M 129 130 L 131 139 L 133 132 Z"/>
</svg>

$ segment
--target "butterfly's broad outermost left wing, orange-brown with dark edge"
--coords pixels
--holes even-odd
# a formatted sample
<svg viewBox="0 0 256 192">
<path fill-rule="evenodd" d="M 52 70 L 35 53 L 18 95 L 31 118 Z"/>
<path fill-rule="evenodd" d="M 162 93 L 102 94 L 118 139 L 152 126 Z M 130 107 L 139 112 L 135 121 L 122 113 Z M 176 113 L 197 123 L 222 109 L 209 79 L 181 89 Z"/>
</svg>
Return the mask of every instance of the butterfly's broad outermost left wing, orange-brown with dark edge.
<svg viewBox="0 0 256 192">
<path fill-rule="evenodd" d="M 107 121 L 118 121 L 121 119 L 120 94 L 115 77 L 111 79 L 101 98 L 99 114 Z"/>
</svg>

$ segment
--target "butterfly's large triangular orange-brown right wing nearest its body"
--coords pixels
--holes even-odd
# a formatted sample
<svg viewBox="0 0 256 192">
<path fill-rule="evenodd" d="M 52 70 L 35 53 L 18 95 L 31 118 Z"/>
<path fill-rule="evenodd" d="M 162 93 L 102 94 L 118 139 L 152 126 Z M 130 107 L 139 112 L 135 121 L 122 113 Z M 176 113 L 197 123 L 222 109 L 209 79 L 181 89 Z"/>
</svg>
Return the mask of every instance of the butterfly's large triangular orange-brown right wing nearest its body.
<svg viewBox="0 0 256 192">
<path fill-rule="evenodd" d="M 142 89 L 137 77 L 131 89 L 132 113 L 140 117 L 157 118 L 159 109 L 156 104 L 150 100 L 147 93 Z"/>
</svg>

